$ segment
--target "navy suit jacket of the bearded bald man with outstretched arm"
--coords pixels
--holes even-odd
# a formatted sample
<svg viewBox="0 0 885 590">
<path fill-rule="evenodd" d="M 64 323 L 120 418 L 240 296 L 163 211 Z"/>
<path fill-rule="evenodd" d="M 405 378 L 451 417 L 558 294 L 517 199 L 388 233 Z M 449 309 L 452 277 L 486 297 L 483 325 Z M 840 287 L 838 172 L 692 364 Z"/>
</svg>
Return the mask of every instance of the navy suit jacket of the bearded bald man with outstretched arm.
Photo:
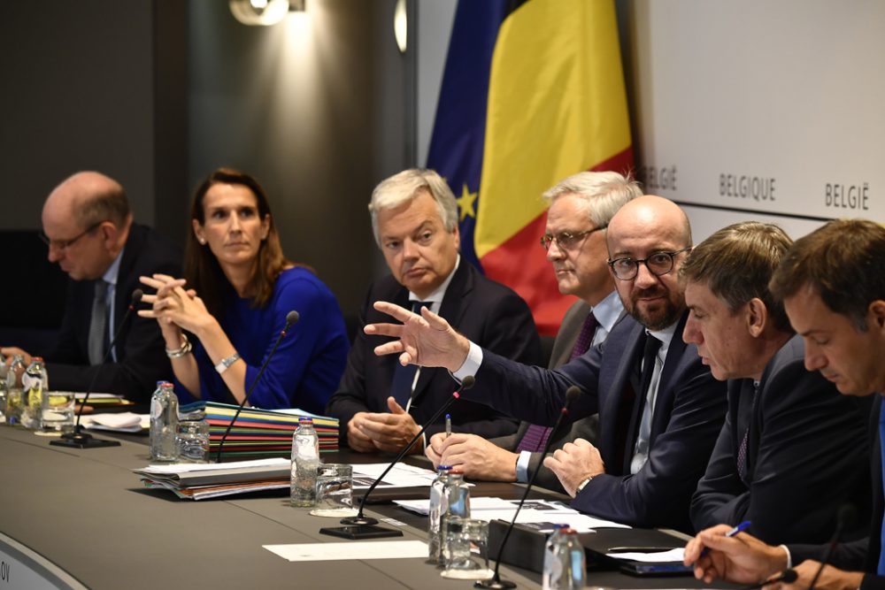
<svg viewBox="0 0 885 590">
<path fill-rule="evenodd" d="M 581 387 L 584 395 L 570 413 L 578 418 L 599 412 L 597 446 L 605 473 L 590 481 L 572 506 L 627 525 L 690 531 L 691 494 L 704 475 L 727 406 L 725 384 L 713 379 L 697 349 L 681 340 L 687 315 L 676 326 L 661 372 L 648 461 L 635 475 L 615 432 L 625 385 L 643 355 L 645 329 L 634 318 L 622 318 L 602 345 L 554 371 L 484 352 L 476 385 L 464 396 L 535 424 L 553 425 L 566 388 Z M 628 441 L 635 441 L 638 422 L 636 417 L 630 425 Z"/>
</svg>

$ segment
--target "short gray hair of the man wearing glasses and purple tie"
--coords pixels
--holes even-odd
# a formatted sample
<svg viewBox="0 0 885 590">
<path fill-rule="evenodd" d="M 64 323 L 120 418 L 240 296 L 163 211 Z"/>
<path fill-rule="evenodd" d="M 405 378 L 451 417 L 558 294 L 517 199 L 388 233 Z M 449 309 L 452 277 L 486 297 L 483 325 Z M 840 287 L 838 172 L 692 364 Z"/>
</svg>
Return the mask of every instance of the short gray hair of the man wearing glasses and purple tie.
<svg viewBox="0 0 885 590">
<path fill-rule="evenodd" d="M 629 175 L 618 172 L 578 172 L 543 194 L 548 206 L 563 195 L 581 199 L 590 221 L 597 227 L 608 226 L 614 214 L 627 202 L 643 195 L 643 189 Z"/>
</svg>

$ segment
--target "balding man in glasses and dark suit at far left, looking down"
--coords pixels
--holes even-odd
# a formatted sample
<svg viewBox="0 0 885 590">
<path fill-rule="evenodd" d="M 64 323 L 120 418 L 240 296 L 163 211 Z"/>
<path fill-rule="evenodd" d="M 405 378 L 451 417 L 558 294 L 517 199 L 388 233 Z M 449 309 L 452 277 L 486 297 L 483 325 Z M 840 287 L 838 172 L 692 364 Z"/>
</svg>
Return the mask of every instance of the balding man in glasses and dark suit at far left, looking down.
<svg viewBox="0 0 885 590">
<path fill-rule="evenodd" d="M 159 379 L 170 379 L 156 324 L 122 319 L 142 275 L 177 276 L 181 257 L 171 243 L 133 223 L 126 192 L 99 172 L 78 172 L 55 188 L 42 211 L 50 262 L 71 278 L 55 347 L 43 353 L 53 389 L 125 395 L 147 402 Z M 109 361 L 102 363 L 114 333 Z M 24 354 L 10 347 L 3 354 Z"/>
</svg>

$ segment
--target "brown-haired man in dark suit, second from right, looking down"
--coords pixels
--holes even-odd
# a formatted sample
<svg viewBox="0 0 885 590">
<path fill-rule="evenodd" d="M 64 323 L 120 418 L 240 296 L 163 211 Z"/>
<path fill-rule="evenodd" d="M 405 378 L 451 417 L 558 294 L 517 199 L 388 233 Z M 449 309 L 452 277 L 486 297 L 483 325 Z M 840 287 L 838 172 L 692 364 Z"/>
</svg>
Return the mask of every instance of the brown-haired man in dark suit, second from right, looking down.
<svg viewBox="0 0 885 590">
<path fill-rule="evenodd" d="M 791 243 L 778 226 L 735 224 L 680 270 L 683 339 L 728 386 L 726 422 L 691 501 L 696 530 L 749 520 L 748 532 L 769 543 L 822 543 L 834 506 L 867 504 L 869 403 L 805 370 L 802 339 L 768 291 Z"/>
</svg>

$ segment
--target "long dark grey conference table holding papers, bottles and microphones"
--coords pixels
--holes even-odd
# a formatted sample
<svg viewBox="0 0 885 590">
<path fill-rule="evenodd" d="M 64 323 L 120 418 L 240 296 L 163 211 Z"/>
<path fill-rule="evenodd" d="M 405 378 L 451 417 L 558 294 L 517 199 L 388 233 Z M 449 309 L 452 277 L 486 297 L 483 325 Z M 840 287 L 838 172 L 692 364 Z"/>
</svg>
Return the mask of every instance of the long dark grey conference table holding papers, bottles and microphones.
<svg viewBox="0 0 885 590">
<path fill-rule="evenodd" d="M 0 426 L 0 588 L 471 587 L 441 578 L 422 558 L 289 562 L 262 546 L 342 542 L 319 533 L 337 521 L 290 507 L 288 494 L 194 502 L 147 489 L 132 472 L 149 463 L 146 437 L 91 449 L 50 440 Z M 386 457 L 339 451 L 323 459 Z M 472 494 L 515 498 L 522 490 L 481 483 Z M 400 521 L 404 540 L 426 540 L 423 517 L 389 504 L 373 504 L 366 514 Z M 520 588 L 540 587 L 535 572 L 507 565 L 501 572 Z M 618 571 L 590 571 L 588 579 L 592 586 L 701 587 L 689 577 L 640 579 Z"/>
</svg>

